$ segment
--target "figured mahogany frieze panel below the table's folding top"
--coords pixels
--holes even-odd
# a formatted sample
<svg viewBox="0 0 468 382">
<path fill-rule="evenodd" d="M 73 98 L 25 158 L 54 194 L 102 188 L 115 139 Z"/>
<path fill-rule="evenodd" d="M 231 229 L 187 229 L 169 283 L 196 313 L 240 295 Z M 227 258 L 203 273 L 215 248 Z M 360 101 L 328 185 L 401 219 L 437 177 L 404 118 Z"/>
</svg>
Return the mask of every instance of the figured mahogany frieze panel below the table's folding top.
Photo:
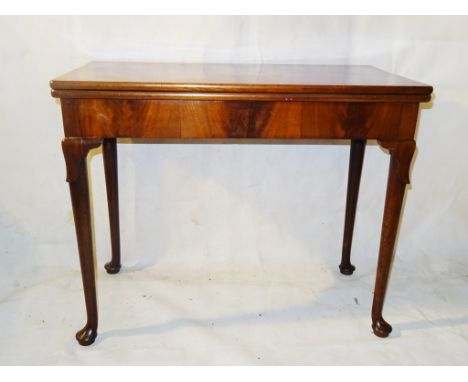
<svg viewBox="0 0 468 382">
<path fill-rule="evenodd" d="M 413 139 L 417 102 L 62 99 L 67 137 Z"/>
</svg>

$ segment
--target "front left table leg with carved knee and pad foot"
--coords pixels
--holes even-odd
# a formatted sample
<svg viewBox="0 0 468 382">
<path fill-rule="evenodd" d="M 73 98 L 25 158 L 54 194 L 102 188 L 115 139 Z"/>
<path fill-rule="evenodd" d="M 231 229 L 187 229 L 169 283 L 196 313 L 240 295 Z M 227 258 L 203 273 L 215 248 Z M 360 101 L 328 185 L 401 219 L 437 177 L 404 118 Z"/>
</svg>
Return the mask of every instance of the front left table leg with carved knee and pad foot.
<svg viewBox="0 0 468 382">
<path fill-rule="evenodd" d="M 83 138 L 65 138 L 62 141 L 87 312 L 86 325 L 76 333 L 80 345 L 91 345 L 97 336 L 98 312 L 86 158 L 89 150 L 99 147 L 101 142 L 101 139 Z"/>
</svg>

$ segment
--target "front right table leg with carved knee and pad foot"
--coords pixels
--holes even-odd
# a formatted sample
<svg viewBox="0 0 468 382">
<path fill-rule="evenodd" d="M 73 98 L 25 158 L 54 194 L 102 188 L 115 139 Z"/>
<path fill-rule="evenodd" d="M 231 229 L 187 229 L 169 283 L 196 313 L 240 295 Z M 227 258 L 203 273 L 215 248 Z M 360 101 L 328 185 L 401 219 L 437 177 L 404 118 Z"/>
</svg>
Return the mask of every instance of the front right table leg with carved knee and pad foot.
<svg viewBox="0 0 468 382">
<path fill-rule="evenodd" d="M 401 207 L 409 181 L 409 169 L 416 143 L 410 141 L 379 141 L 390 151 L 390 169 L 385 197 L 385 209 L 380 238 L 374 301 L 372 303 L 372 329 L 378 337 L 387 337 L 392 327 L 382 317 L 383 304 L 392 266 L 395 239 L 398 231 Z"/>
</svg>

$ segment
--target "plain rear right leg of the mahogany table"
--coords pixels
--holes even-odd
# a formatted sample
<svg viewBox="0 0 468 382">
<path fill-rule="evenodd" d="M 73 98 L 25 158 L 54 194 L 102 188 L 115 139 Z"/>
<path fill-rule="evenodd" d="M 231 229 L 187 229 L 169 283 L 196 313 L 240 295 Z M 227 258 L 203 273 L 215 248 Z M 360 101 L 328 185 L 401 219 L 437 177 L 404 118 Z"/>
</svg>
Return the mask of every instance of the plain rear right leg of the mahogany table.
<svg viewBox="0 0 468 382">
<path fill-rule="evenodd" d="M 343 234 L 343 250 L 341 254 L 340 272 L 344 275 L 352 275 L 356 267 L 351 264 L 351 244 L 353 241 L 354 221 L 356 218 L 356 206 L 361 182 L 362 163 L 366 141 L 355 139 L 351 141 L 348 171 L 348 191 L 346 196 L 346 214 Z"/>
</svg>

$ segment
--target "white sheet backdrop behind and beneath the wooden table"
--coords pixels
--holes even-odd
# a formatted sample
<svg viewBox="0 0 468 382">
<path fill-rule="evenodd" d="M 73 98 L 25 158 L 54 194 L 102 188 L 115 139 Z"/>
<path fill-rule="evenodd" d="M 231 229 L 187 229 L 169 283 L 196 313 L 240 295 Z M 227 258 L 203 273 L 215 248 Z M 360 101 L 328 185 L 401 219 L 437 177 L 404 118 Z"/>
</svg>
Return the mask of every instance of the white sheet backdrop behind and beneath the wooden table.
<svg viewBox="0 0 468 382">
<path fill-rule="evenodd" d="M 1 364 L 467 364 L 468 18 L 1 17 Z M 49 80 L 91 60 L 366 64 L 434 87 L 396 258 L 370 309 L 389 156 L 370 142 L 351 277 L 338 271 L 349 146 L 130 145 L 123 269 L 90 159 L 99 337 L 85 307 Z M 346 142 L 345 142 L 346 143 Z"/>
</svg>

